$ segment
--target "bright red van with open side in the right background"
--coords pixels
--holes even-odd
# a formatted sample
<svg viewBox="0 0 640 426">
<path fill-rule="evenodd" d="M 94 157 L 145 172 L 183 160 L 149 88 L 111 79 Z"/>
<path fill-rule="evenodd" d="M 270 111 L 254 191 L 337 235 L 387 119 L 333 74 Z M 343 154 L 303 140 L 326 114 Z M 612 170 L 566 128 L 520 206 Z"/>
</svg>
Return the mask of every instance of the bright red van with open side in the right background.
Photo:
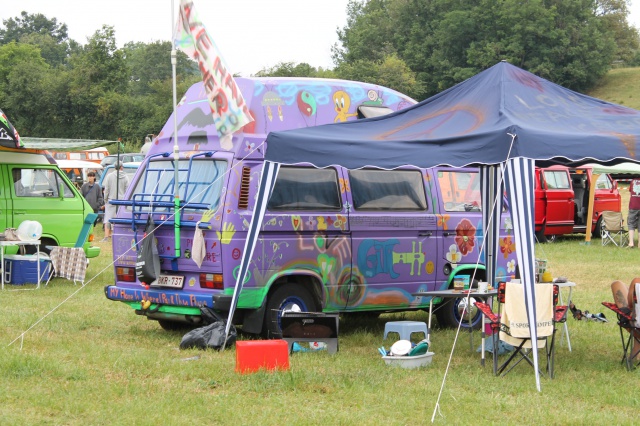
<svg viewBox="0 0 640 426">
<path fill-rule="evenodd" d="M 584 234 L 587 229 L 589 188 L 593 169 L 552 166 L 536 169 L 535 222 L 540 242 L 553 242 L 558 235 Z M 600 235 L 602 212 L 621 208 L 617 183 L 608 174 L 596 181 L 590 231 Z"/>
</svg>

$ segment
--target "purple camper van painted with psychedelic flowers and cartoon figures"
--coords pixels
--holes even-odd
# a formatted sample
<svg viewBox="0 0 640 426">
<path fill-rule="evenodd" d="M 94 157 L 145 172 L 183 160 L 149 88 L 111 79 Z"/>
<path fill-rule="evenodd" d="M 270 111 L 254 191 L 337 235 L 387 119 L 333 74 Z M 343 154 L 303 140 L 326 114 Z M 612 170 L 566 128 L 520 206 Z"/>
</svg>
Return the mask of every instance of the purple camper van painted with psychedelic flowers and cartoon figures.
<svg viewBox="0 0 640 426">
<path fill-rule="evenodd" d="M 117 202 L 116 282 L 105 287 L 106 297 L 165 329 L 200 323 L 204 306 L 228 314 L 268 132 L 357 120 L 415 103 L 390 89 L 350 81 L 237 83 L 255 122 L 236 132 L 231 146 L 219 143 L 202 84 L 179 103 L 181 209 L 175 220 L 173 116 L 132 179 L 127 199 Z M 478 183 L 476 169 L 281 167 L 234 323 L 244 332 L 278 337 L 284 310 L 428 309 L 429 300 L 412 293 L 450 287 L 457 275 L 484 279 L 484 266 L 476 270 L 482 242 Z M 158 226 L 160 275 L 146 284 L 136 277 L 136 261 L 149 215 Z M 515 274 L 509 224 L 505 215 L 502 277 Z M 204 241 L 204 250 L 195 249 L 194 241 Z M 463 303 L 448 302 L 437 311 L 439 321 L 457 325 Z"/>
</svg>

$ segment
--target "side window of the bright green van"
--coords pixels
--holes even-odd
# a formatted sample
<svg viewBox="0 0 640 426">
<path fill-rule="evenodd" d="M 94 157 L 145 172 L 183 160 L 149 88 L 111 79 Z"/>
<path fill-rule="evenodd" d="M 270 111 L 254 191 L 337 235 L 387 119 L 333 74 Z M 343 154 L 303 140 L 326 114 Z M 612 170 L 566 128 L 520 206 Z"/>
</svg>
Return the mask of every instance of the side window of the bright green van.
<svg viewBox="0 0 640 426">
<path fill-rule="evenodd" d="M 53 169 L 13 169 L 13 188 L 17 197 L 59 197 L 60 184 L 64 198 L 73 198 L 74 193 Z"/>
</svg>

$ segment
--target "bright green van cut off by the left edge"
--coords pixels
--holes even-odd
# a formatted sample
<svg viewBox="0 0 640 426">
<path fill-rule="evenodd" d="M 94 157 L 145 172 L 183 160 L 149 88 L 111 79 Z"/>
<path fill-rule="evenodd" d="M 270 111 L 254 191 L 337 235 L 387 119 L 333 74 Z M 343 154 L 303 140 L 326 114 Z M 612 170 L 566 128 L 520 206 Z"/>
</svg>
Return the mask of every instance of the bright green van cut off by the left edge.
<svg viewBox="0 0 640 426">
<path fill-rule="evenodd" d="M 17 228 L 24 220 L 38 221 L 45 252 L 47 246 L 74 247 L 85 217 L 93 213 L 53 163 L 37 150 L 3 148 L 0 153 L 0 232 Z M 100 247 L 92 247 L 91 241 L 93 235 L 83 246 L 88 258 L 100 254 Z"/>
</svg>

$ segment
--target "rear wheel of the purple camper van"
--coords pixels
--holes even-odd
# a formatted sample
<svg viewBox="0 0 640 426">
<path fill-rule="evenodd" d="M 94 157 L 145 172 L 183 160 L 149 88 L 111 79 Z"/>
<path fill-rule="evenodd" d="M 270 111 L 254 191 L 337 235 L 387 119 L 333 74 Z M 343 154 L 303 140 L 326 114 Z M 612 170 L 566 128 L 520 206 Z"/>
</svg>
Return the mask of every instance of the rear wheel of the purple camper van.
<svg viewBox="0 0 640 426">
<path fill-rule="evenodd" d="M 316 312 L 316 309 L 316 303 L 306 288 L 300 284 L 283 285 L 267 299 L 264 324 L 262 324 L 263 337 L 282 338 L 280 318 L 283 312 Z"/>
</svg>

